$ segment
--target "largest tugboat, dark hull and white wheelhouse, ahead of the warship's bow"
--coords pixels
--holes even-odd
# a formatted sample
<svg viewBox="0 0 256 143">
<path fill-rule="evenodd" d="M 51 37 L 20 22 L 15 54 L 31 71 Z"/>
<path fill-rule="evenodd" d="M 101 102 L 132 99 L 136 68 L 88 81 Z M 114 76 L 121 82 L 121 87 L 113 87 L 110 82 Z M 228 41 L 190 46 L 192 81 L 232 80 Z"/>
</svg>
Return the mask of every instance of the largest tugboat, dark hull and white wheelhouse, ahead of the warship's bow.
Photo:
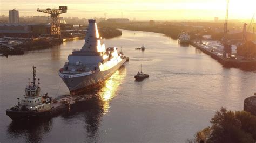
<svg viewBox="0 0 256 143">
<path fill-rule="evenodd" d="M 39 78 L 38 78 L 39 81 Z M 41 88 L 36 85 L 36 67 L 33 66 L 33 82 L 29 82 L 25 88 L 25 95 L 21 99 L 21 102 L 10 109 L 6 110 L 6 115 L 8 115 L 12 120 L 24 120 L 33 119 L 38 117 L 48 117 L 60 110 L 66 109 L 65 104 L 62 102 L 52 102 L 52 98 L 48 94 L 43 96 L 40 94 Z"/>
</svg>

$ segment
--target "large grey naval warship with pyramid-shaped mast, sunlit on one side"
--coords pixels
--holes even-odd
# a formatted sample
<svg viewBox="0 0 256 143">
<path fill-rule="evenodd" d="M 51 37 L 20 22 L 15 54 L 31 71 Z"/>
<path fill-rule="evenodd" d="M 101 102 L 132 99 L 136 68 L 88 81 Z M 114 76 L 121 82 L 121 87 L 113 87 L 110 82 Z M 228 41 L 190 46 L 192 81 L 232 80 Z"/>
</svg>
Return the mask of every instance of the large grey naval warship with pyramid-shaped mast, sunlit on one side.
<svg viewBox="0 0 256 143">
<path fill-rule="evenodd" d="M 126 62 L 122 52 L 116 47 L 105 48 L 100 39 L 96 20 L 89 19 L 84 46 L 74 49 L 59 70 L 60 78 L 72 95 L 107 80 Z"/>
</svg>

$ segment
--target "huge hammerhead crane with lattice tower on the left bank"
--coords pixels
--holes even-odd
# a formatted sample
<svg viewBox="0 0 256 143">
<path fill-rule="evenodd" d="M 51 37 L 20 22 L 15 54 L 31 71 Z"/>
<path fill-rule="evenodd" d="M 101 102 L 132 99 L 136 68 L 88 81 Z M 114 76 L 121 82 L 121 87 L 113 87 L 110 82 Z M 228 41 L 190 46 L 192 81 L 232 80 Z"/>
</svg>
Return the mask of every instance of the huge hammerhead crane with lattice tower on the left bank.
<svg viewBox="0 0 256 143">
<path fill-rule="evenodd" d="M 66 13 L 66 10 L 68 9 L 67 6 L 59 6 L 59 9 L 46 9 L 41 10 L 37 9 L 38 12 L 43 12 L 51 15 L 51 35 L 55 35 L 57 37 L 60 37 L 60 19 L 59 15 L 62 13 Z"/>
</svg>

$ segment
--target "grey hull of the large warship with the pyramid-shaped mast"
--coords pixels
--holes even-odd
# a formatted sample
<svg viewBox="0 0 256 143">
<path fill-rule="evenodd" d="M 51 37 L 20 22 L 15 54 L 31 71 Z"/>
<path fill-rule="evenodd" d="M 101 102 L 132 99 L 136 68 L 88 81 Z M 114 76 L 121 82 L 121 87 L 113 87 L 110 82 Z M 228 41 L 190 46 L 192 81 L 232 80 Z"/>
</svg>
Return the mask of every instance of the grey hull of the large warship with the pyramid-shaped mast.
<svg viewBox="0 0 256 143">
<path fill-rule="evenodd" d="M 74 95 L 82 91 L 86 91 L 92 88 L 95 88 L 96 85 L 104 82 L 107 78 L 111 77 L 116 71 L 126 62 L 126 58 L 124 58 L 121 62 L 119 62 L 116 66 L 112 67 L 109 70 L 99 71 L 97 73 L 91 75 L 85 75 L 80 77 L 62 77 L 62 80 L 65 82 L 67 87 L 69 88 L 70 94 Z M 60 73 L 59 73 L 60 74 Z"/>
</svg>

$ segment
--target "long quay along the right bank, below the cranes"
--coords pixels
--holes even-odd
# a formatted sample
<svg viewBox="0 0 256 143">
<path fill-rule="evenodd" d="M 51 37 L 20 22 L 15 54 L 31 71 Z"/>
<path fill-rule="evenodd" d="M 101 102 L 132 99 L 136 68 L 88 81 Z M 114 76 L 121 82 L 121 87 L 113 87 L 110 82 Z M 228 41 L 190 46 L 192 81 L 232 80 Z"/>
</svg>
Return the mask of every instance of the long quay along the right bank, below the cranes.
<svg viewBox="0 0 256 143">
<path fill-rule="evenodd" d="M 223 66 L 236 67 L 236 68 L 256 68 L 256 59 L 246 60 L 242 56 L 237 56 L 236 59 L 225 58 L 222 51 L 216 50 L 210 45 L 205 45 L 198 41 L 191 41 L 190 44 L 207 55 L 210 55 L 213 59 L 217 60 Z"/>
</svg>

